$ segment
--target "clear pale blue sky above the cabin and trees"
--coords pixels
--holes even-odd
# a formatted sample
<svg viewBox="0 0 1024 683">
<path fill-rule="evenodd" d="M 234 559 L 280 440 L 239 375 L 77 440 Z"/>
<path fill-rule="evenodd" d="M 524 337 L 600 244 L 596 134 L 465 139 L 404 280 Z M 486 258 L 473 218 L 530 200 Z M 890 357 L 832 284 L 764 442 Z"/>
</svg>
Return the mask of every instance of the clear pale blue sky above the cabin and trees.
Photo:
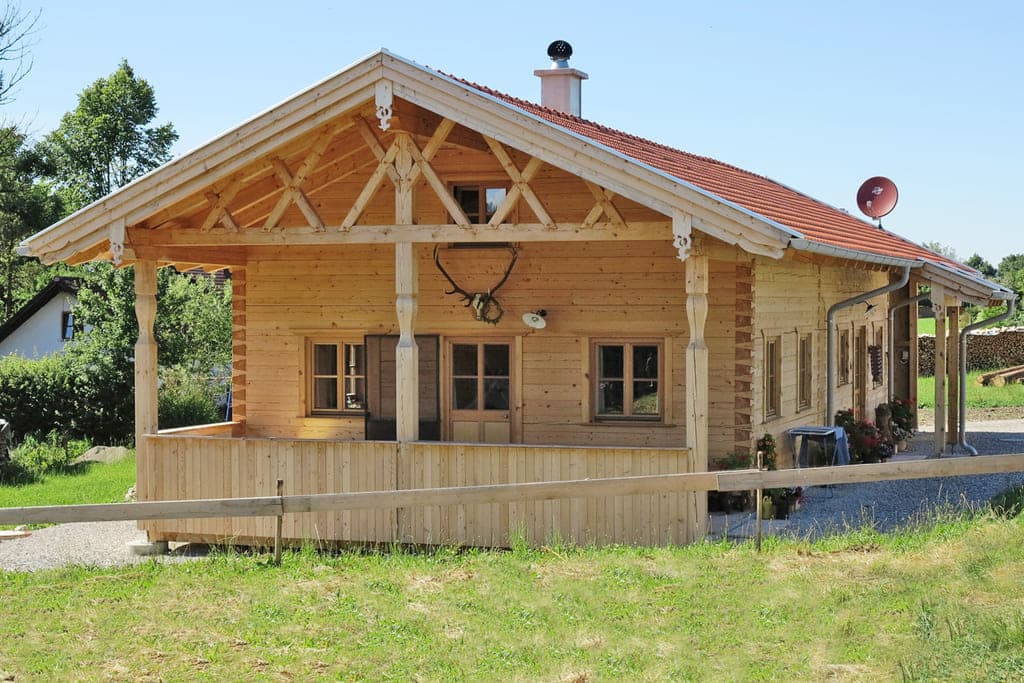
<svg viewBox="0 0 1024 683">
<path fill-rule="evenodd" d="M 1024 252 L 1024 3 L 53 2 L 6 105 L 37 135 L 126 57 L 176 154 L 386 47 L 527 99 L 546 47 L 590 74 L 584 116 L 762 173 L 886 227 L 997 265 Z"/>
</svg>

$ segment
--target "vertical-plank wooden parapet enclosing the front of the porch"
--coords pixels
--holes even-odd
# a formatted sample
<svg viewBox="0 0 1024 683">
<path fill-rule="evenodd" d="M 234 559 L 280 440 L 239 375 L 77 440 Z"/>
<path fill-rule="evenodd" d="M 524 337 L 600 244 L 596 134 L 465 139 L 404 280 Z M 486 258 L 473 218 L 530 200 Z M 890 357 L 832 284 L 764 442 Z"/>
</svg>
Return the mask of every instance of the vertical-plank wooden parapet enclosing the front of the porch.
<svg viewBox="0 0 1024 683">
<path fill-rule="evenodd" d="M 609 449 L 394 441 L 238 438 L 230 424 L 145 436 L 138 458 L 140 501 L 284 494 L 406 490 L 441 486 L 558 481 L 691 471 L 686 449 Z M 210 432 L 214 432 L 210 435 Z M 217 434 L 216 432 L 226 432 Z M 522 536 L 542 545 L 669 545 L 699 539 L 702 494 L 679 493 L 453 505 L 336 513 L 286 514 L 292 543 L 456 544 L 507 547 Z M 152 540 L 272 540 L 272 518 L 140 522 Z"/>
</svg>

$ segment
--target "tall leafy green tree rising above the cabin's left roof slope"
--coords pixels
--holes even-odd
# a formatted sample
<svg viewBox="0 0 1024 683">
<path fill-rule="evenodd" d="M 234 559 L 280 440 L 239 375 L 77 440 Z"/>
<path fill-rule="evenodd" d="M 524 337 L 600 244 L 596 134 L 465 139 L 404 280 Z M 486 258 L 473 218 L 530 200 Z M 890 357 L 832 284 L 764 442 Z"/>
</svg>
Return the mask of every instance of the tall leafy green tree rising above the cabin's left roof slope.
<svg viewBox="0 0 1024 683">
<path fill-rule="evenodd" d="M 40 142 L 68 208 L 77 210 L 171 158 L 173 124 L 150 126 L 158 112 L 153 86 L 122 59 L 78 96 L 78 106 Z"/>
</svg>

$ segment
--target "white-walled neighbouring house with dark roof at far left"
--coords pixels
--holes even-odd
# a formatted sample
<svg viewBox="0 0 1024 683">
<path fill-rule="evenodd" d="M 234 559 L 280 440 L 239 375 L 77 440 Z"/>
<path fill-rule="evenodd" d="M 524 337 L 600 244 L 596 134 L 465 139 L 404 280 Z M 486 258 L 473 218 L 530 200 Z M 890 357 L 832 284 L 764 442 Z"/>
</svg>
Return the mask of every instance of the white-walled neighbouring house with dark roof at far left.
<svg viewBox="0 0 1024 683">
<path fill-rule="evenodd" d="M 41 358 L 60 353 L 75 336 L 79 282 L 55 278 L 0 326 L 0 356 Z"/>
</svg>

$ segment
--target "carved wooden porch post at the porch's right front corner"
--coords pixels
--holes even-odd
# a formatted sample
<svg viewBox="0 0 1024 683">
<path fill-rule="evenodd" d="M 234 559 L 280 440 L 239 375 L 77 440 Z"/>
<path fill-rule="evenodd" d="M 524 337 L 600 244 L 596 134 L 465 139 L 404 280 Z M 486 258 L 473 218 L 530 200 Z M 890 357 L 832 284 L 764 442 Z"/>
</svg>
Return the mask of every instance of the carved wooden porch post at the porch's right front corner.
<svg viewBox="0 0 1024 683">
<path fill-rule="evenodd" d="M 686 446 L 690 450 L 694 472 L 708 471 L 708 256 L 694 241 L 686 259 L 686 317 L 690 342 L 686 347 Z M 707 533 L 707 497 L 697 501 L 693 520 L 695 537 Z"/>
</svg>

